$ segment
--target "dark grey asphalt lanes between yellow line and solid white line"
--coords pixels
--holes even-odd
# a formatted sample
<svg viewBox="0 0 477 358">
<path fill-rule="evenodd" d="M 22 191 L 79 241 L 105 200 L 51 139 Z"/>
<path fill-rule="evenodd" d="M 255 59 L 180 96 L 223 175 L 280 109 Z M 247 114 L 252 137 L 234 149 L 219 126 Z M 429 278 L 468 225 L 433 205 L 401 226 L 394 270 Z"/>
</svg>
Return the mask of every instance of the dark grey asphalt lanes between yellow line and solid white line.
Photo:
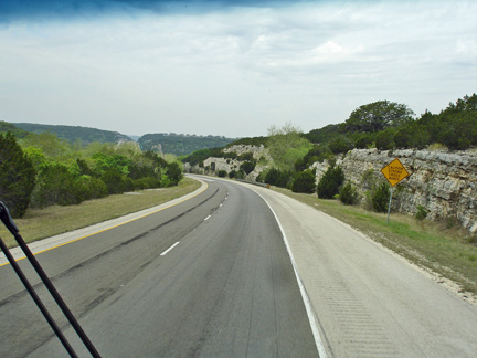
<svg viewBox="0 0 477 358">
<path fill-rule="evenodd" d="M 279 225 L 247 188 L 210 181 L 187 201 L 36 259 L 103 357 L 318 357 Z M 10 265 L 0 283 L 0 357 L 67 357 Z"/>
</svg>

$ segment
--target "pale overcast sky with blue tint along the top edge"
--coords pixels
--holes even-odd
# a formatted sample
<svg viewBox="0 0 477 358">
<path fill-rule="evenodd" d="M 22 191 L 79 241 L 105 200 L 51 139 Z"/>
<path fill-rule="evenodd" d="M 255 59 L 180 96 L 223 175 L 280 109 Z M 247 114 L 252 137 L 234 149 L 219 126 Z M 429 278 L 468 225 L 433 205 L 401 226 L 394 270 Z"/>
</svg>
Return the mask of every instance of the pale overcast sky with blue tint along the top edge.
<svg viewBox="0 0 477 358">
<path fill-rule="evenodd" d="M 305 133 L 477 92 L 477 1 L 0 0 L 0 120 Z"/>
</svg>

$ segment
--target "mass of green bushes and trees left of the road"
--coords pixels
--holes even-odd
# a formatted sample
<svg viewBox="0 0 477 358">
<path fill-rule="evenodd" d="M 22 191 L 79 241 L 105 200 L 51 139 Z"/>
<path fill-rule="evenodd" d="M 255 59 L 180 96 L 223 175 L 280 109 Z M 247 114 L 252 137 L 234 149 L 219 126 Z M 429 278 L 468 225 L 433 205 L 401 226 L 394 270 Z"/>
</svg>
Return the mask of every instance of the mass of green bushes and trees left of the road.
<svg viewBox="0 0 477 358">
<path fill-rule="evenodd" d="M 0 134 L 0 200 L 13 218 L 32 209 L 174 187 L 182 177 L 180 162 L 141 151 L 131 141 L 82 145 L 52 133 Z"/>
</svg>

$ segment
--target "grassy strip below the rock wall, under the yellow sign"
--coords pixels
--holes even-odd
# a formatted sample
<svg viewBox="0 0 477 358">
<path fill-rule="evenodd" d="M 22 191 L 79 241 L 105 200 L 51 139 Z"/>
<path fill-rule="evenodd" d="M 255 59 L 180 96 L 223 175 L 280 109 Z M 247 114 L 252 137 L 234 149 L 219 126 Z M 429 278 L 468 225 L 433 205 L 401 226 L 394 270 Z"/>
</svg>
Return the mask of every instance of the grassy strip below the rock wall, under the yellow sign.
<svg viewBox="0 0 477 358">
<path fill-rule="evenodd" d="M 411 262 L 456 282 L 463 291 L 477 294 L 477 245 L 469 232 L 398 213 L 391 213 L 386 224 L 386 214 L 321 200 L 316 194 L 274 190 L 350 224 Z"/>
</svg>

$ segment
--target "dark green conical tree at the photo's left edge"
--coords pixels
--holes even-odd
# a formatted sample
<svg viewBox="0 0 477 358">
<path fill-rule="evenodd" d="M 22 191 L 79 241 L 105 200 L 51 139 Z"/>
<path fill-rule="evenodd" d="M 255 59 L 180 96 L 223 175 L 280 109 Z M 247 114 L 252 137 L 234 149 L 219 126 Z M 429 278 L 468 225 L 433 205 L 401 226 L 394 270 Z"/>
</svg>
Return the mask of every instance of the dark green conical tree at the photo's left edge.
<svg viewBox="0 0 477 358">
<path fill-rule="evenodd" d="M 34 182 L 33 165 L 14 136 L 0 134 L 0 201 L 13 218 L 21 218 L 26 212 Z"/>
</svg>

